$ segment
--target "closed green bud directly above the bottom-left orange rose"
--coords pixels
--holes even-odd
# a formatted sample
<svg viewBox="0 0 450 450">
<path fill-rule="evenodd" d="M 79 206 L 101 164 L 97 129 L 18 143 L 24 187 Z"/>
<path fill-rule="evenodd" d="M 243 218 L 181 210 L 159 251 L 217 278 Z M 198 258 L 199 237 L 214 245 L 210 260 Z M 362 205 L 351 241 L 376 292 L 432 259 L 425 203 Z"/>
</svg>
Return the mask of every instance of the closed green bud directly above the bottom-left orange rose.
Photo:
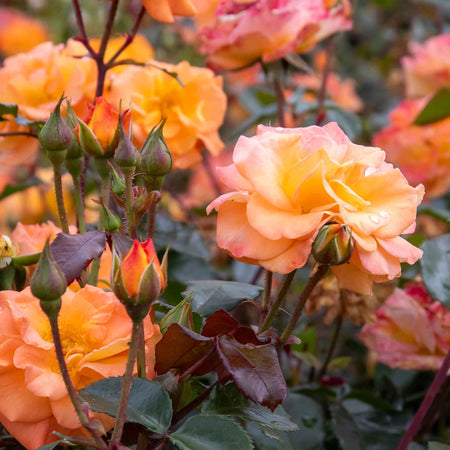
<svg viewBox="0 0 450 450">
<path fill-rule="evenodd" d="M 48 240 L 30 280 L 32 294 L 48 303 L 57 301 L 66 292 L 67 282 L 50 251 Z"/>
</svg>

